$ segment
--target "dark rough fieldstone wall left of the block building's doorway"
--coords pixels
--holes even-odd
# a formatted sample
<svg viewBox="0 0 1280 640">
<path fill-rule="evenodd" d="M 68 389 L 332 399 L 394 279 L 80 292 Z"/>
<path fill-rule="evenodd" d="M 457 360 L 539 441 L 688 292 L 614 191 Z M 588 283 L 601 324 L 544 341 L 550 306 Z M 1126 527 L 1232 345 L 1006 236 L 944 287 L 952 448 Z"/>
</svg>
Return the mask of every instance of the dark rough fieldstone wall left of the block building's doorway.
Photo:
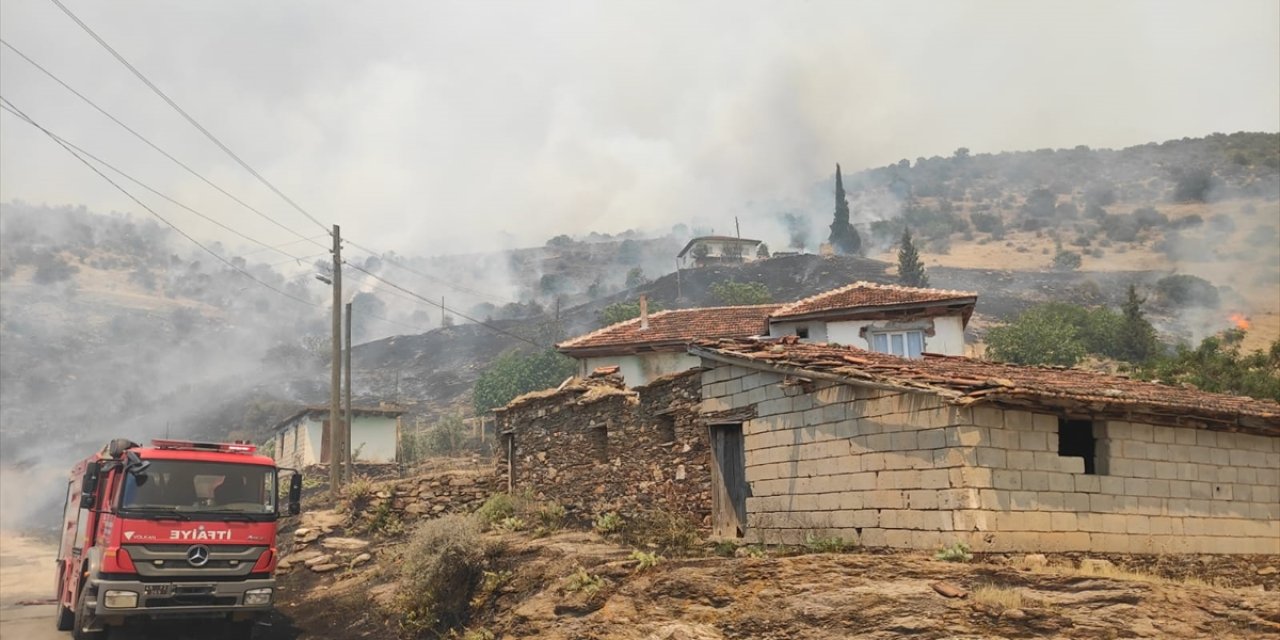
<svg viewBox="0 0 1280 640">
<path fill-rule="evenodd" d="M 709 524 L 707 436 L 695 424 L 698 371 L 635 392 L 581 388 L 498 411 L 498 431 L 515 438 L 515 460 L 499 447 L 498 472 L 518 493 L 531 489 L 586 521 L 663 508 Z"/>
</svg>

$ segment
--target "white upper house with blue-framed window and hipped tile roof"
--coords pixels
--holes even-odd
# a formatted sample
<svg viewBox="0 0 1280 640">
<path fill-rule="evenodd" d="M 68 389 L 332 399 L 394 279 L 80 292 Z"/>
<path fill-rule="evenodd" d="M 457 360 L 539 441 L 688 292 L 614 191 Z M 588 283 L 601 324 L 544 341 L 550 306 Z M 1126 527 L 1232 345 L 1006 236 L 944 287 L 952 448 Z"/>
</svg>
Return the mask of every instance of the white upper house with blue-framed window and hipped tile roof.
<svg viewBox="0 0 1280 640">
<path fill-rule="evenodd" d="M 977 303 L 977 293 L 858 282 L 778 308 L 769 315 L 769 335 L 909 358 L 961 356 Z"/>
</svg>

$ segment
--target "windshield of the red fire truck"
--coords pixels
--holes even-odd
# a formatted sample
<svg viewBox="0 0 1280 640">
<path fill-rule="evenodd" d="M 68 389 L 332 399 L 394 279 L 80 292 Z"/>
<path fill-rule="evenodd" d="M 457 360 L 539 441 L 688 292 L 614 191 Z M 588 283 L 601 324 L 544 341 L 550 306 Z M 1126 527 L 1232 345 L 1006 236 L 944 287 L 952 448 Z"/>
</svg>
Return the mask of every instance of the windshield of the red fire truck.
<svg viewBox="0 0 1280 640">
<path fill-rule="evenodd" d="M 275 497 L 271 467 L 154 460 L 146 471 L 125 474 L 120 509 L 142 517 L 163 512 L 274 517 Z"/>
</svg>

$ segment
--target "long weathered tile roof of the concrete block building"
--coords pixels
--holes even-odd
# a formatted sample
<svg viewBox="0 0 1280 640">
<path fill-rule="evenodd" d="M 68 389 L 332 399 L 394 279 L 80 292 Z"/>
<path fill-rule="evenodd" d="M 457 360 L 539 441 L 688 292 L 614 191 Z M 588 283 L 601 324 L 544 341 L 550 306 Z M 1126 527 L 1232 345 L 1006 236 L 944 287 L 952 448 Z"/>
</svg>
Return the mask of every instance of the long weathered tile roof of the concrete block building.
<svg viewBox="0 0 1280 640">
<path fill-rule="evenodd" d="M 854 347 L 780 340 L 699 340 L 694 355 L 756 362 L 772 369 L 888 384 L 933 392 L 956 404 L 1000 402 L 1007 404 L 1076 408 L 1088 415 L 1185 425 L 1194 419 L 1219 428 L 1280 435 L 1280 403 L 1190 387 L 1134 380 L 1083 369 L 1006 365 L 956 356 L 925 355 L 906 360 Z M 1135 417 L 1137 419 L 1137 417 Z M 1188 420 L 1193 419 L 1193 420 Z"/>
</svg>

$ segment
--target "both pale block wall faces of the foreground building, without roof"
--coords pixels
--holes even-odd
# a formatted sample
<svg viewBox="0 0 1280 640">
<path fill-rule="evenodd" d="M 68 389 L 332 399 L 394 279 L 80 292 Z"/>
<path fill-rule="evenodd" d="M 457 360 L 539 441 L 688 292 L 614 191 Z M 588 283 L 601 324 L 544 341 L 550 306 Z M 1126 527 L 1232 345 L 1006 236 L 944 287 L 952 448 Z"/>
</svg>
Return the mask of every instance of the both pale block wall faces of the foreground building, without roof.
<svg viewBox="0 0 1280 640">
<path fill-rule="evenodd" d="M 1085 474 L 1055 415 L 704 366 L 703 411 L 748 416 L 750 541 L 1280 553 L 1280 438 L 1103 421 Z"/>
</svg>

